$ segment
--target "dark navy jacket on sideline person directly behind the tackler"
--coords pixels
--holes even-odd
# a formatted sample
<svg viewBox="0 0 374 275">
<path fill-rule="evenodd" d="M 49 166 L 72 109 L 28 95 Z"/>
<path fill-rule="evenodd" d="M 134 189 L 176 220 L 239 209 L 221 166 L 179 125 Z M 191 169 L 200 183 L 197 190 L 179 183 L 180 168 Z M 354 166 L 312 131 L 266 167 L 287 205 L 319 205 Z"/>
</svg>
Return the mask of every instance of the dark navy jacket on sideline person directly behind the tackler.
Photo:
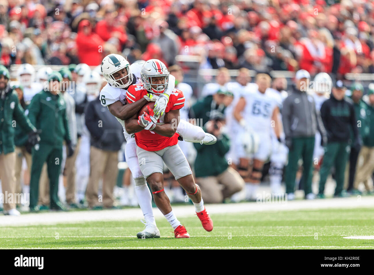
<svg viewBox="0 0 374 275">
<path fill-rule="evenodd" d="M 91 134 L 91 146 L 105 151 L 118 151 L 125 141 L 123 128 L 99 97 L 90 101 L 85 109 L 85 123 Z"/>
</svg>

